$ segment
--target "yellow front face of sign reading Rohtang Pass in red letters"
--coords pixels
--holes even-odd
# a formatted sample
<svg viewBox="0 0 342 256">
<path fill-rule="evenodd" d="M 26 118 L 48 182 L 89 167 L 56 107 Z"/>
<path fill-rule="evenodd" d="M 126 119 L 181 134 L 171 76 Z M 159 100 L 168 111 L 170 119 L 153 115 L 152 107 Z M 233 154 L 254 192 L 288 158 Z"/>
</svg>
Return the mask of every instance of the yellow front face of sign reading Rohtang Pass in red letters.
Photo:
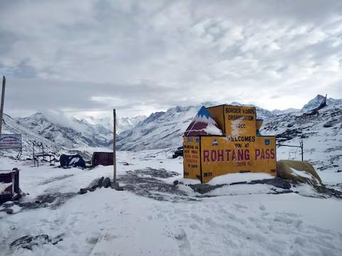
<svg viewBox="0 0 342 256">
<path fill-rule="evenodd" d="M 201 165 L 204 183 L 216 176 L 234 173 L 275 176 L 275 137 L 252 137 L 244 142 L 232 142 L 229 137 L 201 137 Z"/>
</svg>

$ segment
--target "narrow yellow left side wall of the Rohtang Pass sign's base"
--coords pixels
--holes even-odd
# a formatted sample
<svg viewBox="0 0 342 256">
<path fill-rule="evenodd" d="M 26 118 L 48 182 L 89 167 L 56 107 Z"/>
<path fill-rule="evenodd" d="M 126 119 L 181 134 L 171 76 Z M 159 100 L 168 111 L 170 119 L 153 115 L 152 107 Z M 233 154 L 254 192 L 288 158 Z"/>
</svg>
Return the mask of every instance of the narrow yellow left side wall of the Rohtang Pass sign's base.
<svg viewBox="0 0 342 256">
<path fill-rule="evenodd" d="M 184 178 L 201 179 L 200 137 L 183 137 Z"/>
</svg>

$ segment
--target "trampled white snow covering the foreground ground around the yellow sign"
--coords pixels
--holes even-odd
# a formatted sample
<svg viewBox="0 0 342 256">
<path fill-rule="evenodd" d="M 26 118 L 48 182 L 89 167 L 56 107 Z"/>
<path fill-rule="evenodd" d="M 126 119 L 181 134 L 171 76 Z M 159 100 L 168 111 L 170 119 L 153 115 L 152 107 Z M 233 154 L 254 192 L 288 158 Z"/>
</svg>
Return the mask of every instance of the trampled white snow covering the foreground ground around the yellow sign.
<svg viewBox="0 0 342 256">
<path fill-rule="evenodd" d="M 118 178 L 125 191 L 98 188 L 83 195 L 76 192 L 95 178 L 113 176 L 113 166 L 36 168 L 0 159 L 1 168 L 21 169 L 21 189 L 29 193 L 24 202 L 56 196 L 45 207 L 0 212 L 0 255 L 341 255 L 341 199 L 314 197 L 309 186 L 275 194 L 266 184 L 222 186 L 201 195 L 187 186 L 198 181 L 182 178 L 182 158 L 170 154 L 119 151 Z M 174 176 L 154 177 L 154 169 Z M 211 183 L 249 181 L 254 175 L 268 178 L 234 174 Z M 341 183 L 341 175 L 335 175 Z M 173 188 L 176 179 L 184 184 Z M 32 250 L 9 246 L 24 235 L 63 240 L 38 243 Z"/>
</svg>

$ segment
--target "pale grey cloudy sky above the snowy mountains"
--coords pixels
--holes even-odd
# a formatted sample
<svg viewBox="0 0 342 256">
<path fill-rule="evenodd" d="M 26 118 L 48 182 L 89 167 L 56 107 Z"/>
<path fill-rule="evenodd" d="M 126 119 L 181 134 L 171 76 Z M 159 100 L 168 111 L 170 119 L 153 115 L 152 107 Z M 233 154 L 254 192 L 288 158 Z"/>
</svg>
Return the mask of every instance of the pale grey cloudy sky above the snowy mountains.
<svg viewBox="0 0 342 256">
<path fill-rule="evenodd" d="M 5 112 L 342 98 L 342 1 L 0 1 Z"/>
</svg>

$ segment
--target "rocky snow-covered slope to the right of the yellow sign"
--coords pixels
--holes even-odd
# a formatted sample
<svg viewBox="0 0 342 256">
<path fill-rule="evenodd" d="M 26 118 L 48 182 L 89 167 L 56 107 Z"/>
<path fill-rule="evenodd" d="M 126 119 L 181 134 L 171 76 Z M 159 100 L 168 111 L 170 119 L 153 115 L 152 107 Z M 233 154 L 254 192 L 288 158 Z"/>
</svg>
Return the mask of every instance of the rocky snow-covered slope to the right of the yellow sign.
<svg viewBox="0 0 342 256">
<path fill-rule="evenodd" d="M 304 109 L 309 110 L 308 106 L 317 102 L 315 99 Z M 327 100 L 327 106 L 318 110 L 318 114 L 293 112 L 266 119 L 261 134 L 276 135 L 280 144 L 299 146 L 303 141 L 304 160 L 310 161 L 319 170 L 342 171 L 341 100 Z M 301 159 L 300 149 L 285 146 L 277 148 L 277 156 L 281 159 Z"/>
</svg>

